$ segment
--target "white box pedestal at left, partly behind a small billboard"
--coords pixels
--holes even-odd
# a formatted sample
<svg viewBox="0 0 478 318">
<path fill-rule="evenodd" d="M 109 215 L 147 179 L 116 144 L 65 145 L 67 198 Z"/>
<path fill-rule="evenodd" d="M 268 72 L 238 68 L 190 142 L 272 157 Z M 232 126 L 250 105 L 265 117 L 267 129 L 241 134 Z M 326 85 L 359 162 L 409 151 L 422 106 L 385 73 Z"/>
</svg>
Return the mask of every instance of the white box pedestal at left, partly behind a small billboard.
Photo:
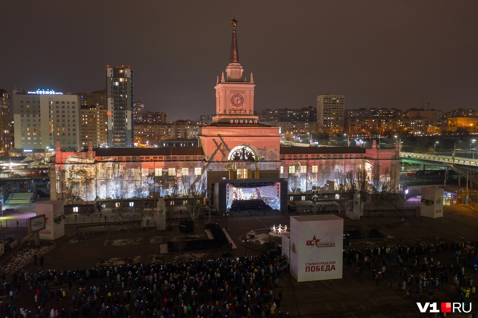
<svg viewBox="0 0 478 318">
<path fill-rule="evenodd" d="M 43 201 L 35 204 L 36 215 L 45 214 L 45 228 L 40 230 L 41 240 L 56 240 L 65 236 L 63 201 Z"/>
</svg>

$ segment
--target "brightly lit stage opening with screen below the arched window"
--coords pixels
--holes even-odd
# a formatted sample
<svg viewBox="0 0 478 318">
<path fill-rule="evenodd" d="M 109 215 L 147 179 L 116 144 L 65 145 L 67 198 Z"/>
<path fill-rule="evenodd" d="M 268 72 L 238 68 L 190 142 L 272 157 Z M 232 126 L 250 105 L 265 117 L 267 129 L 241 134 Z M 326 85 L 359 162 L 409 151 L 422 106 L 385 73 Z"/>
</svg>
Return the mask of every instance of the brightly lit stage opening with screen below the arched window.
<svg viewBox="0 0 478 318">
<path fill-rule="evenodd" d="M 238 187 L 237 184 L 226 184 L 226 211 L 247 206 L 248 201 L 263 201 L 266 205 L 255 205 L 257 209 L 281 209 L 281 183 L 260 187 Z M 243 203 L 243 204 L 240 204 Z M 267 207 L 269 206 L 269 207 Z M 254 207 L 251 209 L 254 210 Z"/>
</svg>

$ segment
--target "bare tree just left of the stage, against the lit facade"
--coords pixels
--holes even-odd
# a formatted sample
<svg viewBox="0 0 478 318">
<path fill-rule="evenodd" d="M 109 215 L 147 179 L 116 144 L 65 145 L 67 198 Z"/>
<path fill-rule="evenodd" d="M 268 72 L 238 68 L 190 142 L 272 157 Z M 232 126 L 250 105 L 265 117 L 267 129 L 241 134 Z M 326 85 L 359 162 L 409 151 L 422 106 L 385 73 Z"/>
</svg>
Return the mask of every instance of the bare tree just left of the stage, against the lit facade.
<svg viewBox="0 0 478 318">
<path fill-rule="evenodd" d="M 191 220 L 196 220 L 196 217 L 200 212 L 204 210 L 204 201 L 207 193 L 206 178 L 201 177 L 198 181 L 195 181 L 191 176 L 181 177 L 183 184 L 183 199 L 187 212 L 191 217 Z"/>
</svg>

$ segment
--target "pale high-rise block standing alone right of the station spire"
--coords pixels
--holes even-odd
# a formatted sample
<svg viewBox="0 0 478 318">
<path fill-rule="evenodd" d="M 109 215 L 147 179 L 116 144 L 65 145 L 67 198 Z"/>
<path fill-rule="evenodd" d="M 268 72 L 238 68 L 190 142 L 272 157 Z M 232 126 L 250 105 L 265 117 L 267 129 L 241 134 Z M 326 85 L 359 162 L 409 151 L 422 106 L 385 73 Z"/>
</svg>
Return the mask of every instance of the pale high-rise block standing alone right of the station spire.
<svg viewBox="0 0 478 318">
<path fill-rule="evenodd" d="M 326 133 L 339 133 L 344 130 L 344 100 L 344 95 L 317 96 L 317 121 Z"/>
</svg>

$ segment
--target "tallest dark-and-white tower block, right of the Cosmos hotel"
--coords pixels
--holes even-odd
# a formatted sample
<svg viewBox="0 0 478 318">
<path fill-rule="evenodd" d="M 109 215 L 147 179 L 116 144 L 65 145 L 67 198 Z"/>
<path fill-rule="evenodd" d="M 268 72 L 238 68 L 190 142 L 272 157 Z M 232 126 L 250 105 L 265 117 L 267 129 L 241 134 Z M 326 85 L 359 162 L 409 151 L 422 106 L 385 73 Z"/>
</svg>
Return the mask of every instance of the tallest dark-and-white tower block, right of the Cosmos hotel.
<svg viewBox="0 0 478 318">
<path fill-rule="evenodd" d="M 133 73 L 130 67 L 106 68 L 108 95 L 108 146 L 132 147 L 133 123 Z"/>
</svg>

